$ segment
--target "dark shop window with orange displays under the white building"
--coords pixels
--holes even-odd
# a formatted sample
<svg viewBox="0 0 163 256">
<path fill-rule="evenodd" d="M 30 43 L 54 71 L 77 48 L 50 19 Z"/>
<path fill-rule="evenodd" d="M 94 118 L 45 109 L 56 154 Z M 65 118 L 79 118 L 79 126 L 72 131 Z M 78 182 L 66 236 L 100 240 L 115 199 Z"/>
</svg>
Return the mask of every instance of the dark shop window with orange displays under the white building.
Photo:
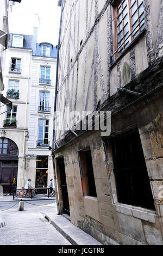
<svg viewBox="0 0 163 256">
<path fill-rule="evenodd" d="M 37 156 L 35 187 L 47 187 L 48 156 Z"/>
</svg>

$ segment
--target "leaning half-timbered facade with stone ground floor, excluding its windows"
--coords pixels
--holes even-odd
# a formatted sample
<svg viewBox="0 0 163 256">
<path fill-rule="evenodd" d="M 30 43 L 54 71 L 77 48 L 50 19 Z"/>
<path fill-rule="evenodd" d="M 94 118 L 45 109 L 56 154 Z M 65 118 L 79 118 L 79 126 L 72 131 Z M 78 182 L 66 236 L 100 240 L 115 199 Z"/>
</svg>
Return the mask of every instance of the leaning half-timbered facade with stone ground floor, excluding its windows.
<svg viewBox="0 0 163 256">
<path fill-rule="evenodd" d="M 104 245 L 163 245 L 163 2 L 143 1 L 145 29 L 113 61 L 114 2 L 62 1 L 57 111 L 65 115 L 66 107 L 79 113 L 110 111 L 111 135 L 74 130 L 76 136 L 65 125 L 64 131 L 55 131 L 58 210 L 62 214 L 65 196 L 58 166 L 62 157 L 74 225 Z M 64 114 L 55 123 L 64 123 Z M 132 127 L 139 131 L 155 210 L 118 200 L 111 139 Z M 87 148 L 91 150 L 97 197 L 83 193 L 79 153 Z"/>
</svg>

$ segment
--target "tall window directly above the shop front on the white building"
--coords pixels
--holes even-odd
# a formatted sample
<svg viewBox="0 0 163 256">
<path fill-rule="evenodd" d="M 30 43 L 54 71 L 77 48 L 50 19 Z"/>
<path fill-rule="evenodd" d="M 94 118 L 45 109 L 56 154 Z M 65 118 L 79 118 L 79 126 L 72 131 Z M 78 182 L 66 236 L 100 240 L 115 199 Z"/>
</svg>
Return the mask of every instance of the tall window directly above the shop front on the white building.
<svg viewBox="0 0 163 256">
<path fill-rule="evenodd" d="M 37 146 L 43 147 L 48 145 L 48 131 L 49 131 L 49 121 L 39 120 L 39 139 L 37 141 Z"/>
</svg>

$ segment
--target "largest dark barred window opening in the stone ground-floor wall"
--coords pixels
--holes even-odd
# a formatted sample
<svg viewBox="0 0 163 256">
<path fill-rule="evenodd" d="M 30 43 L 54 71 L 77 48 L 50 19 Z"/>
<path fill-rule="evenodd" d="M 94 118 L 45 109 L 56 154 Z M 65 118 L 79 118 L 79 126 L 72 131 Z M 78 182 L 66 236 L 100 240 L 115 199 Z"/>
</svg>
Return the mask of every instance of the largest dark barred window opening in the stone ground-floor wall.
<svg viewBox="0 0 163 256">
<path fill-rule="evenodd" d="M 155 210 L 139 130 L 114 137 L 112 149 L 118 202 Z"/>
</svg>

